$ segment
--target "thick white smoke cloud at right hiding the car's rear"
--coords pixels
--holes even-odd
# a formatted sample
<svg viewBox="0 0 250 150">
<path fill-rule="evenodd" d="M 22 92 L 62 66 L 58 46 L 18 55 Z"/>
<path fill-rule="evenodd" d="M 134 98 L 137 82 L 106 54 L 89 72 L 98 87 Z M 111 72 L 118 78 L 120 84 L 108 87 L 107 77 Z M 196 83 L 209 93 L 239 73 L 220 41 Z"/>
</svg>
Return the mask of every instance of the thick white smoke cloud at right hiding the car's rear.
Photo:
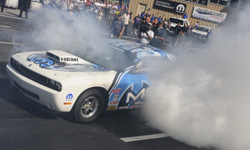
<svg viewBox="0 0 250 150">
<path fill-rule="evenodd" d="M 152 75 L 143 106 L 150 125 L 196 147 L 250 149 L 249 14 L 229 18 L 205 49 Z"/>
</svg>

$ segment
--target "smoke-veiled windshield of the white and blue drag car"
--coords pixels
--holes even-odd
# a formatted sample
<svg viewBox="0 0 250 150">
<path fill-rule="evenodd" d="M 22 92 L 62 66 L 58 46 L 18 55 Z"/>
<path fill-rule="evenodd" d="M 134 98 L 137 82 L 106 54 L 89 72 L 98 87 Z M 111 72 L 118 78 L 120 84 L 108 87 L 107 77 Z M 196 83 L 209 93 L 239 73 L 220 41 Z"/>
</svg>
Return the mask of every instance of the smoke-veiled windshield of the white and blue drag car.
<svg viewBox="0 0 250 150">
<path fill-rule="evenodd" d="M 75 52 L 75 55 L 79 56 L 79 53 Z M 136 54 L 109 47 L 109 49 L 98 52 L 90 50 L 79 57 L 110 70 L 124 71 L 127 67 L 133 65 Z"/>
</svg>

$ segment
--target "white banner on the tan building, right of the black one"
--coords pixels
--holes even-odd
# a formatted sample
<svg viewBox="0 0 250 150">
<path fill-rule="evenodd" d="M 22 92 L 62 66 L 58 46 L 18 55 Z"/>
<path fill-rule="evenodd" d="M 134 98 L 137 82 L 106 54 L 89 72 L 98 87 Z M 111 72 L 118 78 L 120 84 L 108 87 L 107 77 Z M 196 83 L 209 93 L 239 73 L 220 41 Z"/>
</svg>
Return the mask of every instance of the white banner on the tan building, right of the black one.
<svg viewBox="0 0 250 150">
<path fill-rule="evenodd" d="M 194 7 L 192 17 L 210 22 L 222 23 L 226 20 L 227 14 L 205 8 Z"/>
</svg>

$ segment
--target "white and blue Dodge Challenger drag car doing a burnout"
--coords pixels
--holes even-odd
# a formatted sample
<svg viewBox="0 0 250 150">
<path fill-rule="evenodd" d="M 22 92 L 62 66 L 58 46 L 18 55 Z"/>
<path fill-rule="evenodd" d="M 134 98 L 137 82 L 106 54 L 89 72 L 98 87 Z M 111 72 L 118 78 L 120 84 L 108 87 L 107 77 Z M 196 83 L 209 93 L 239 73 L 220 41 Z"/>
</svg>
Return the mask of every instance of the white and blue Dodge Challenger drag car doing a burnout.
<svg viewBox="0 0 250 150">
<path fill-rule="evenodd" d="M 103 110 L 139 106 L 149 86 L 144 59 L 175 59 L 149 45 L 118 39 L 105 44 L 104 52 L 82 56 L 60 50 L 17 53 L 10 58 L 7 74 L 30 99 L 51 110 L 71 112 L 77 122 L 86 123 Z"/>
</svg>

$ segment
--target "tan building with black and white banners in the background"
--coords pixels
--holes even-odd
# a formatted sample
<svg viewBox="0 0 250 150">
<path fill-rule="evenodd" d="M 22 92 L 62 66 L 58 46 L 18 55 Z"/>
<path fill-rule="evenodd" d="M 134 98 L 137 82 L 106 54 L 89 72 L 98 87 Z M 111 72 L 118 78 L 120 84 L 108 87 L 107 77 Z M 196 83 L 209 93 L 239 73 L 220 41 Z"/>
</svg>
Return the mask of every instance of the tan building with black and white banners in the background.
<svg viewBox="0 0 250 150">
<path fill-rule="evenodd" d="M 131 0 L 129 11 L 132 18 L 142 12 L 163 19 L 182 18 L 187 13 L 191 25 L 198 21 L 199 25 L 214 28 L 226 20 L 228 10 L 249 5 L 249 0 Z"/>
</svg>

